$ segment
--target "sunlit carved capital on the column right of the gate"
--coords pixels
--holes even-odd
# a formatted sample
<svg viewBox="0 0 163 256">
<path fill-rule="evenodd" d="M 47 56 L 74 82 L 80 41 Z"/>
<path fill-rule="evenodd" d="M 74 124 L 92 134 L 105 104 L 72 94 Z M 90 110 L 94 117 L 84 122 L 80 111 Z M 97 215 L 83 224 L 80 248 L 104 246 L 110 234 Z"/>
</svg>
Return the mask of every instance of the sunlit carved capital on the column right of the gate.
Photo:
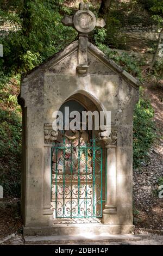
<svg viewBox="0 0 163 256">
<path fill-rule="evenodd" d="M 109 131 L 102 131 L 99 132 L 99 139 L 101 141 L 105 142 L 105 145 L 114 145 L 116 146 L 117 144 L 117 130 L 111 130 L 111 132 L 109 133 Z"/>
</svg>

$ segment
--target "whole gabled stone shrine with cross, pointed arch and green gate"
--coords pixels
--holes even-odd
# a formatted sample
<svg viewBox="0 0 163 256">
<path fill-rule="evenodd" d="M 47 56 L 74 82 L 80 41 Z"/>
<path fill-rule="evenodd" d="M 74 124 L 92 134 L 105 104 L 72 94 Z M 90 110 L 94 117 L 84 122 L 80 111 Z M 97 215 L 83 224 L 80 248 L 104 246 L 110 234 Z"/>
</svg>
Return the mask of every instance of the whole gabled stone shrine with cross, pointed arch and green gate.
<svg viewBox="0 0 163 256">
<path fill-rule="evenodd" d="M 139 81 L 88 41 L 105 25 L 87 4 L 62 23 L 77 41 L 22 77 L 24 235 L 127 234 L 133 230 L 133 111 Z M 57 131 L 53 112 L 111 112 L 108 126 Z"/>
</svg>

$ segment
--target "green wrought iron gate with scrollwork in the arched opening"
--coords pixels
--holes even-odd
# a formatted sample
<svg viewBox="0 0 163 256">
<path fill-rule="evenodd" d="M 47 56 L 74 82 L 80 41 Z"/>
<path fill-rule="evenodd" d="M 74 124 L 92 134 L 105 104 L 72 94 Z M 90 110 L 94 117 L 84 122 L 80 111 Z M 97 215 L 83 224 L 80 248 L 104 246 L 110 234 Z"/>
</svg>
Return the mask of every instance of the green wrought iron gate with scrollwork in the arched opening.
<svg viewBox="0 0 163 256">
<path fill-rule="evenodd" d="M 52 202 L 56 218 L 102 217 L 103 154 L 96 145 L 81 141 L 52 148 Z"/>
</svg>

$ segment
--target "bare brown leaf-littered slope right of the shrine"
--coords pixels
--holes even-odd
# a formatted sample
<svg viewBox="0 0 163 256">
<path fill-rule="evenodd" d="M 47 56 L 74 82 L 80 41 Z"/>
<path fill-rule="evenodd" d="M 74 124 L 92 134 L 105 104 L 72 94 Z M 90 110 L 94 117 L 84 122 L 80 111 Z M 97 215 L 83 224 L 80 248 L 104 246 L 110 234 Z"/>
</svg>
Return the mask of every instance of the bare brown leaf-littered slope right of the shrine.
<svg viewBox="0 0 163 256">
<path fill-rule="evenodd" d="M 135 227 L 151 230 L 163 229 L 163 199 L 158 197 L 158 179 L 163 176 L 163 87 L 155 83 L 145 84 L 145 94 L 151 100 L 154 108 L 156 124 L 156 142 L 149 151 L 149 161 L 141 169 L 135 170 L 134 202 Z"/>
</svg>

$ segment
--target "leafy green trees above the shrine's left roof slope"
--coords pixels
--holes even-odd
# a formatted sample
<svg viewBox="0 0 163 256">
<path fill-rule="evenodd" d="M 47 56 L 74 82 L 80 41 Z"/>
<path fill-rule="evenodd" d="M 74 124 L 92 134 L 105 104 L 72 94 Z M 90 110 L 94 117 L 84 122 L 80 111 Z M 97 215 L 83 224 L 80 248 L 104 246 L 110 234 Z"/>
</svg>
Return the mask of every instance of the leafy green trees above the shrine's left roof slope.
<svg viewBox="0 0 163 256">
<path fill-rule="evenodd" d="M 76 38 L 76 31 L 61 23 L 62 15 L 71 10 L 61 5 L 62 0 L 27 1 L 24 11 L 22 1 L 17 1 L 17 13 L 1 10 L 0 16 L 17 26 L 0 39 L 4 47 L 4 69 L 28 71 L 58 52 Z M 15 7 L 16 8 L 16 7 Z M 27 19 L 28 18 L 28 19 Z"/>
</svg>

